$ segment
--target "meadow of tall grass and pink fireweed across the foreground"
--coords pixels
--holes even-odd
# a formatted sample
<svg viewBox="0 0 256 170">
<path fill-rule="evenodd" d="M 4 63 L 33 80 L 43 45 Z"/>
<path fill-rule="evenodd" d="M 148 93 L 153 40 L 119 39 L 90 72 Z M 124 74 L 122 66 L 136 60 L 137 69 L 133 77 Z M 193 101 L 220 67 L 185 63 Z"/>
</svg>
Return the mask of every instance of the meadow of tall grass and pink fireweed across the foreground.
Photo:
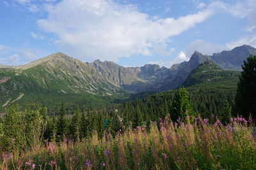
<svg viewBox="0 0 256 170">
<path fill-rule="evenodd" d="M 256 135 L 251 120 L 196 118 L 193 123 L 159 124 L 128 129 L 115 137 L 45 143 L 26 153 L 3 153 L 0 169 L 255 169 Z"/>
</svg>

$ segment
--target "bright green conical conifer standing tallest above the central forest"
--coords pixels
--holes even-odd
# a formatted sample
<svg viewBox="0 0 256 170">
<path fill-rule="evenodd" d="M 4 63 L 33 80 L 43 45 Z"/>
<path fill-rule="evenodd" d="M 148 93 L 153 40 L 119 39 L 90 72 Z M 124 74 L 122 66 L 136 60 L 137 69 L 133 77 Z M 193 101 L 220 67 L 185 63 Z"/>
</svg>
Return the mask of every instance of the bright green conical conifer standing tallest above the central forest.
<svg viewBox="0 0 256 170">
<path fill-rule="evenodd" d="M 185 118 L 187 115 L 195 115 L 192 110 L 188 91 L 184 87 L 180 87 L 179 90 L 175 92 L 170 113 L 172 120 L 177 120 L 179 117 Z"/>
</svg>

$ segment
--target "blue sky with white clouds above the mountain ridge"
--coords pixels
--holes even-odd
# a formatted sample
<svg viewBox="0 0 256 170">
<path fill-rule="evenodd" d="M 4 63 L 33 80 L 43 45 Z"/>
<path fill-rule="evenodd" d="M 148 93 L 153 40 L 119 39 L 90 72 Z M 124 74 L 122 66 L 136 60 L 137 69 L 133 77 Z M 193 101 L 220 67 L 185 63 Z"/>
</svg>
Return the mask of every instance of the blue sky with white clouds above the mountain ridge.
<svg viewBox="0 0 256 170">
<path fill-rule="evenodd" d="M 256 47 L 256 0 L 1 0 L 0 63 L 63 52 L 121 66 Z"/>
</svg>

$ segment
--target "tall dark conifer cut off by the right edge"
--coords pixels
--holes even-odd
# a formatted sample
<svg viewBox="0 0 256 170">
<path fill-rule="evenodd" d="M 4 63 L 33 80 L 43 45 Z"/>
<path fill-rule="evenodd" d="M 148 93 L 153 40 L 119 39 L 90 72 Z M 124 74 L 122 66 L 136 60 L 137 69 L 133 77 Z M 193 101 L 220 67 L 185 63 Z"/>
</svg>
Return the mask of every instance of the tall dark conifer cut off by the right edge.
<svg viewBox="0 0 256 170">
<path fill-rule="evenodd" d="M 242 66 L 237 84 L 236 111 L 244 117 L 256 117 L 256 55 L 250 55 Z"/>
</svg>

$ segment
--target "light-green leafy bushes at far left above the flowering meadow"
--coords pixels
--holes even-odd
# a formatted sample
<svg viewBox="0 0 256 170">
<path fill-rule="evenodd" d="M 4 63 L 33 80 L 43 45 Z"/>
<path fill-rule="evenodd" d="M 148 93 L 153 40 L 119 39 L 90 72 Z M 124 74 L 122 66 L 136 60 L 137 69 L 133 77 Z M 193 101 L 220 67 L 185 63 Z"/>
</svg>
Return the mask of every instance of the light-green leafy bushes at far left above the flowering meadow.
<svg viewBox="0 0 256 170">
<path fill-rule="evenodd" d="M 3 150 L 26 150 L 40 146 L 47 125 L 47 110 L 38 104 L 27 104 L 24 111 L 13 105 L 4 116 L 3 136 L 0 138 Z"/>
</svg>

